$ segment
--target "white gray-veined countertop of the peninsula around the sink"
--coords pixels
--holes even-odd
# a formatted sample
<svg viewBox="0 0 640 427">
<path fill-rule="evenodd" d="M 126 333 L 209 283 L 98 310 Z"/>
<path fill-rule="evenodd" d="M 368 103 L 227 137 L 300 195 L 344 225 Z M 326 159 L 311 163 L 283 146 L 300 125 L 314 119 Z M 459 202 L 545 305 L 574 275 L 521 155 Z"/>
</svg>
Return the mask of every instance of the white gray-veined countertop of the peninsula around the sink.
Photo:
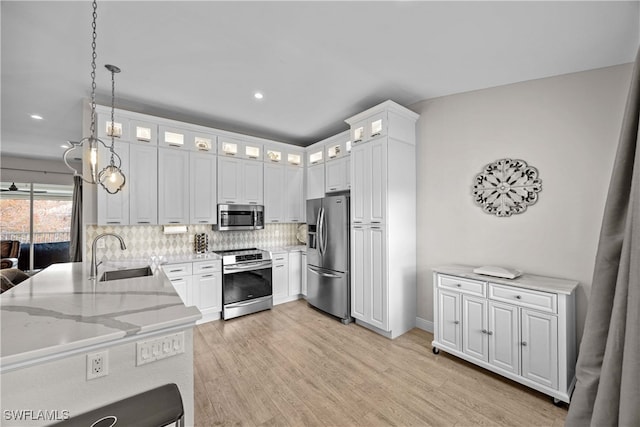
<svg viewBox="0 0 640 427">
<path fill-rule="evenodd" d="M 117 266 L 116 264 L 120 264 Z M 105 263 L 98 270 L 149 265 L 142 260 Z M 0 296 L 0 371 L 59 353 L 177 326 L 202 317 L 186 307 L 173 285 L 153 275 L 99 282 L 89 265 L 53 264 Z"/>
</svg>

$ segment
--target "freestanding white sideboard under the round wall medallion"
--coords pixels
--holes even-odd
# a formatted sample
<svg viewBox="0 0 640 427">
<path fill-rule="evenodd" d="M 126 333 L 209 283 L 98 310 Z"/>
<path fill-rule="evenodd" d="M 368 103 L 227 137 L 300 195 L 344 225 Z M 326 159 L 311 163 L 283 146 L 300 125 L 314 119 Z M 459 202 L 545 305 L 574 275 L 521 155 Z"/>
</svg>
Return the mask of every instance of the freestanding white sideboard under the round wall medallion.
<svg viewBox="0 0 640 427">
<path fill-rule="evenodd" d="M 575 386 L 578 282 L 434 269 L 434 353 L 444 350 L 569 403 Z"/>
</svg>

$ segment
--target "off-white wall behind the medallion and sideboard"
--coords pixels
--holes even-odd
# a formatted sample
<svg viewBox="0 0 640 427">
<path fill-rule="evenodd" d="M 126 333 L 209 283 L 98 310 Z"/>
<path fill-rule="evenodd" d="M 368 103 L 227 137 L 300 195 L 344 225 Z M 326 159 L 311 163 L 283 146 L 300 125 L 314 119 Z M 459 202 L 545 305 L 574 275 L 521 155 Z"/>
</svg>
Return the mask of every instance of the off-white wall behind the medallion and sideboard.
<svg viewBox="0 0 640 427">
<path fill-rule="evenodd" d="M 426 100 L 417 146 L 418 317 L 433 320 L 431 268 L 502 265 L 579 280 L 578 337 L 591 288 L 631 64 Z M 473 178 L 510 157 L 538 168 L 542 192 L 498 218 Z"/>
</svg>

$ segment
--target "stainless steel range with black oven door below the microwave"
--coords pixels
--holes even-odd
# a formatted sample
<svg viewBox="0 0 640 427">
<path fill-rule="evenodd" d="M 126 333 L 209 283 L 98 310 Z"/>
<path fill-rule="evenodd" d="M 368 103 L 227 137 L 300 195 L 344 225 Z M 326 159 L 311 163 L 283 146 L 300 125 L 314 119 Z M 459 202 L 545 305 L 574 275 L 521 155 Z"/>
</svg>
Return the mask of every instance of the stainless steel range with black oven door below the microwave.
<svg viewBox="0 0 640 427">
<path fill-rule="evenodd" d="M 271 309 L 271 253 L 256 248 L 216 253 L 222 256 L 222 318 Z"/>
</svg>

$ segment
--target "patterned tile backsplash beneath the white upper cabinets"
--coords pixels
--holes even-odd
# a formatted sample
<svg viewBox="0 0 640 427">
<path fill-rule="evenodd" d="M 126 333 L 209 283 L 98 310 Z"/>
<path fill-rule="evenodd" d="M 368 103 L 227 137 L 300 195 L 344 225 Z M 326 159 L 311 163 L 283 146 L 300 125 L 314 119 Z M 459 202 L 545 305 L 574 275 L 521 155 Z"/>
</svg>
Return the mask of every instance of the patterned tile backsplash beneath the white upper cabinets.
<svg viewBox="0 0 640 427">
<path fill-rule="evenodd" d="M 296 238 L 300 224 L 266 224 L 256 231 L 214 231 L 211 225 L 189 225 L 184 234 L 164 234 L 161 225 L 86 226 L 85 259 L 91 258 L 91 242 L 102 233 L 116 233 L 124 239 L 127 250 L 120 250 L 115 238 L 104 238 L 100 259 L 113 261 L 144 259 L 153 255 L 183 256 L 195 253 L 194 236 L 206 233 L 209 250 L 241 249 L 248 247 L 278 247 L 301 244 Z"/>
</svg>

